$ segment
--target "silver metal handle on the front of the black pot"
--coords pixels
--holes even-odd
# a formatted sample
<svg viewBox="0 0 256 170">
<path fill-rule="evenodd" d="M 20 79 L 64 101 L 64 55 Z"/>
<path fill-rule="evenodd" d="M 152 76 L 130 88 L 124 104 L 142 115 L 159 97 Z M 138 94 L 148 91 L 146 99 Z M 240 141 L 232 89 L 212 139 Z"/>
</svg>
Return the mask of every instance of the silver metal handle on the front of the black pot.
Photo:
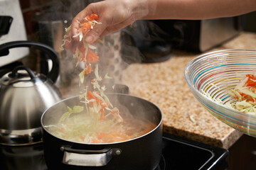
<svg viewBox="0 0 256 170">
<path fill-rule="evenodd" d="M 72 149 L 71 147 L 60 147 L 64 152 L 63 164 L 76 166 L 105 166 L 113 155 L 121 154 L 121 149 L 105 148 L 101 150 Z"/>
</svg>

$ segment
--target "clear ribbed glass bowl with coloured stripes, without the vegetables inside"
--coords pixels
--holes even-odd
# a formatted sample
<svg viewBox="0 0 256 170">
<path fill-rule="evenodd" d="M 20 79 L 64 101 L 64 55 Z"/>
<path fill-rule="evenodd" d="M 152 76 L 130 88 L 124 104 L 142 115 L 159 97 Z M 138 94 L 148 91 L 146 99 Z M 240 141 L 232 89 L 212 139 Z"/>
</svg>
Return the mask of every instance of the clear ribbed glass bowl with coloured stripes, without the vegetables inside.
<svg viewBox="0 0 256 170">
<path fill-rule="evenodd" d="M 215 118 L 256 137 L 256 115 L 235 111 L 215 101 L 235 102 L 227 91 L 246 74 L 256 74 L 256 50 L 208 52 L 188 62 L 185 68 L 185 78 L 193 95 Z"/>
</svg>

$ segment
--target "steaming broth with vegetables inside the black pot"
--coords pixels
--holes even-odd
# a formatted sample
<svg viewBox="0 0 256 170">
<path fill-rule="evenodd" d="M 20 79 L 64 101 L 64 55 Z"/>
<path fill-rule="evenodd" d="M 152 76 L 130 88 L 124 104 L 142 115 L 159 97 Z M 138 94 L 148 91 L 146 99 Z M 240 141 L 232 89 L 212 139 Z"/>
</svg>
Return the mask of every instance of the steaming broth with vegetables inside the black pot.
<svg viewBox="0 0 256 170">
<path fill-rule="evenodd" d="M 101 120 L 98 113 L 82 111 L 73 113 L 69 118 L 63 120 L 63 113 L 58 113 L 58 115 L 62 115 L 60 119 L 45 127 L 56 137 L 82 143 L 111 143 L 131 140 L 156 128 L 155 123 L 151 123 L 142 116 L 132 115 L 124 106 L 119 104 L 117 107 L 120 111 L 120 118 L 109 113 L 109 115 L 105 115 L 105 119 Z"/>
</svg>

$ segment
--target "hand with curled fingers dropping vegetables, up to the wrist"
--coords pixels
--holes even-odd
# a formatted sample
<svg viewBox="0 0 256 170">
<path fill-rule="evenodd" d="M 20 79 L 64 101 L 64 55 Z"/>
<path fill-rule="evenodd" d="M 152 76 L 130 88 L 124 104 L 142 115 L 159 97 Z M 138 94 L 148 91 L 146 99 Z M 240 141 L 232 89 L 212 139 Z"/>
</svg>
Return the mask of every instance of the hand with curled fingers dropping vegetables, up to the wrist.
<svg viewBox="0 0 256 170">
<path fill-rule="evenodd" d="M 127 4 L 119 4 L 120 7 L 115 8 L 113 12 L 113 6 L 115 5 L 115 0 L 89 4 L 73 19 L 71 27 L 72 35 L 78 35 L 80 23 L 83 23 L 83 18 L 91 13 L 95 13 L 99 16 L 100 21 L 98 22 L 100 23 L 96 24 L 92 30 L 86 33 L 85 42 L 89 44 L 96 42 L 98 38 L 102 38 L 104 35 L 129 26 L 133 20 L 130 12 L 127 12 Z M 75 37 L 75 40 L 79 40 L 79 37 Z"/>
</svg>

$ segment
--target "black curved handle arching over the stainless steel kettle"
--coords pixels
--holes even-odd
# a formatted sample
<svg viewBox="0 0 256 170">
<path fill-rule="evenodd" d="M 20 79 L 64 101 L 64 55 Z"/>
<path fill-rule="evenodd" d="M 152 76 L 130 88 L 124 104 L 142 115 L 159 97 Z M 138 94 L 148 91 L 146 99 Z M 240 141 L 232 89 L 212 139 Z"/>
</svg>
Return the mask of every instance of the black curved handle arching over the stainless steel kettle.
<svg viewBox="0 0 256 170">
<path fill-rule="evenodd" d="M 0 45 L 0 57 L 9 55 L 9 49 L 14 47 L 35 47 L 42 52 L 46 52 L 50 60 L 53 62 L 53 67 L 50 72 L 47 74 L 47 77 L 55 83 L 58 79 L 58 74 L 60 72 L 60 61 L 58 59 L 57 53 L 53 50 L 52 47 L 45 45 L 41 42 L 33 42 L 33 41 L 12 41 L 6 42 Z"/>
</svg>

